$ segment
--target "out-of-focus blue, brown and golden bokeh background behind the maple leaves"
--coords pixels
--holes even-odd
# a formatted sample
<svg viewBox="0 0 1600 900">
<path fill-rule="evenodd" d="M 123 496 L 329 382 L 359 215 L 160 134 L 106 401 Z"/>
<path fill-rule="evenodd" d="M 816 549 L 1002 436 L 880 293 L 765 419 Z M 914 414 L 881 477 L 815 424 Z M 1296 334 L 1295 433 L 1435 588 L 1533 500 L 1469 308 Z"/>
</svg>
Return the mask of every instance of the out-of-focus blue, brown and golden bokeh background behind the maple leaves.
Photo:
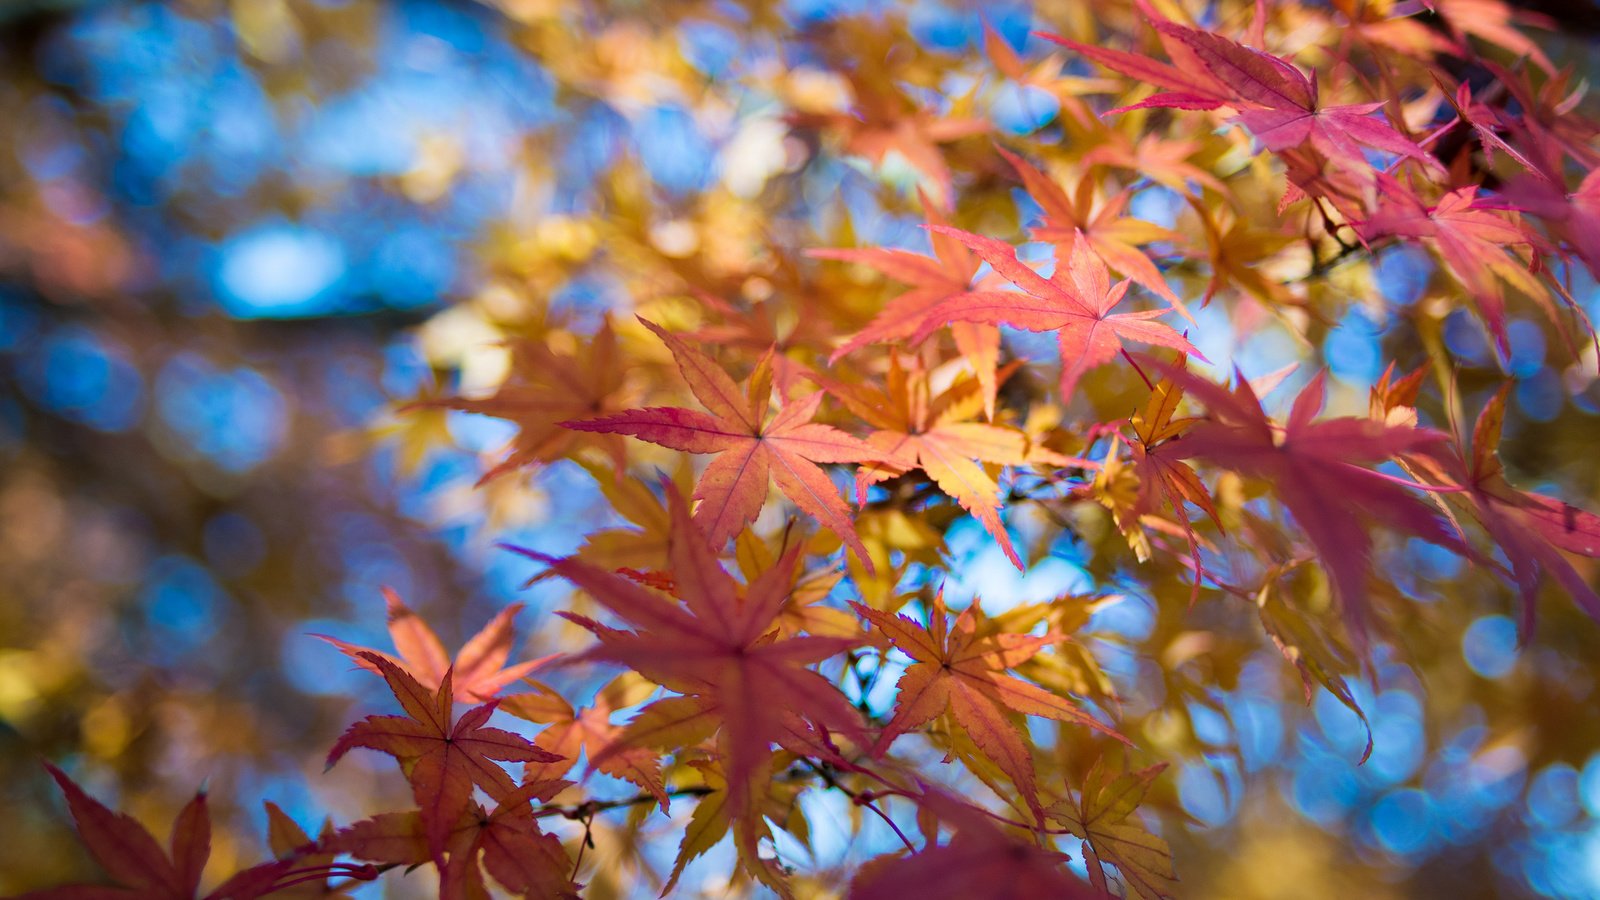
<svg viewBox="0 0 1600 900">
<path fill-rule="evenodd" d="M 592 512 L 594 480 L 558 464 L 474 488 L 504 423 L 395 413 L 498 383 L 506 311 L 538 298 L 592 328 L 648 290 L 627 248 L 736 272 L 718 232 L 814 234 L 806 203 L 834 194 L 862 243 L 920 242 L 918 218 L 878 200 L 915 173 L 827 157 L 784 114 L 837 107 L 846 88 L 822 72 L 872 29 L 952 70 L 987 66 L 971 8 L 653 6 L 0 3 L 0 892 L 91 871 L 42 757 L 158 834 L 205 780 L 219 865 L 264 854 L 259 799 L 307 831 L 394 806 L 405 790 L 381 761 L 322 775 L 381 685 L 307 637 L 387 647 L 379 586 L 448 647 L 514 601 L 536 633 L 520 655 L 560 644 L 541 610 L 562 593 L 520 589 L 526 567 L 493 541 L 570 551 L 614 524 Z M 1070 6 L 984 14 L 1037 51 L 1027 32 Z M 1589 14 L 1550 45 L 1594 75 Z M 982 102 L 1011 135 L 1056 115 L 1037 88 Z M 755 218 L 802 167 L 782 216 Z M 602 247 L 611 263 L 589 264 Z M 1390 253 L 1376 272 L 1403 304 L 1429 263 Z M 1592 283 L 1579 298 L 1600 315 Z M 1389 328 L 1357 307 L 1325 336 L 1349 396 L 1378 376 Z M 1507 452 L 1541 476 L 1528 487 L 1594 509 L 1592 359 L 1589 378 L 1557 367 L 1541 328 L 1512 323 Z M 1488 383 L 1470 320 L 1443 340 Z M 1275 346 L 1202 349 L 1262 372 Z M 1019 578 L 971 522 L 947 544 L 986 599 L 1098 585 L 1083 548 Z M 1107 669 L 1130 693 L 1154 679 L 1194 730 L 1168 775 L 1194 818 L 1166 833 L 1184 895 L 1600 897 L 1597 626 L 1550 604 L 1518 652 L 1509 601 L 1472 594 L 1486 588 L 1453 557 L 1408 552 L 1394 578 L 1418 601 L 1416 665 L 1355 687 L 1365 765 L 1360 724 L 1325 692 L 1302 706 L 1270 647 L 1174 684 L 1187 657 L 1149 639 L 1222 634 L 1205 610 L 1125 604 L 1091 625 L 1122 647 Z M 1165 687 L 1152 660 L 1173 665 Z M 685 884 L 717 895 L 726 865 L 710 855 Z"/>
</svg>

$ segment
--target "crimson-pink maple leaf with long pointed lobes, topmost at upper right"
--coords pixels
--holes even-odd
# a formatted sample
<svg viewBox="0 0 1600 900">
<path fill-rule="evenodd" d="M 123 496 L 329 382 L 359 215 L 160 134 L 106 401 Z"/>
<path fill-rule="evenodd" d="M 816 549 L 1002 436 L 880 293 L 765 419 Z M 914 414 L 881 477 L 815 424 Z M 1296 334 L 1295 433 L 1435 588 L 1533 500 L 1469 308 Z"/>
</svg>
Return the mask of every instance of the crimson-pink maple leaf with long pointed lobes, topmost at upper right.
<svg viewBox="0 0 1600 900">
<path fill-rule="evenodd" d="M 1310 146 L 1331 162 L 1355 171 L 1371 171 L 1362 154 L 1365 146 L 1440 168 L 1426 151 L 1382 119 L 1373 117 L 1386 101 L 1322 106 L 1317 82 L 1286 59 L 1170 21 L 1152 24 L 1178 66 L 1064 37 L 1043 37 L 1070 46 L 1107 69 L 1166 88 L 1165 93 L 1115 112 L 1147 107 L 1198 110 L 1227 106 L 1238 110 L 1234 120 L 1250 128 L 1272 152 Z"/>
</svg>

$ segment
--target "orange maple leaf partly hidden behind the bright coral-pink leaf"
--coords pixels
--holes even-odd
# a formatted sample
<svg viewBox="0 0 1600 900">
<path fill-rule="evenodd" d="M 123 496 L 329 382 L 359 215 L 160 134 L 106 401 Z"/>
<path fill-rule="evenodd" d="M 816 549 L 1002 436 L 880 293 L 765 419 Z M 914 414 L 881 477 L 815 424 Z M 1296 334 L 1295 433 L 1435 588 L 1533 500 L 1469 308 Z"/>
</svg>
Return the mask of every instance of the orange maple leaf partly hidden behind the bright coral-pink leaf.
<svg viewBox="0 0 1600 900">
<path fill-rule="evenodd" d="M 949 219 L 939 213 L 938 205 L 923 197 L 928 224 L 947 226 Z M 816 259 L 838 259 L 843 263 L 859 263 L 870 266 L 885 275 L 912 285 L 912 290 L 888 301 L 883 309 L 858 331 L 853 338 L 840 344 L 829 364 L 837 364 L 845 354 L 867 344 L 898 341 L 910 338 L 918 331 L 928 311 L 941 301 L 973 290 L 973 275 L 978 274 L 979 259 L 966 245 L 938 231 L 928 232 L 933 245 L 933 256 L 923 256 L 909 250 L 890 247 L 866 248 L 814 248 L 806 250 L 806 256 Z M 971 364 L 982 386 L 984 415 L 995 415 L 995 391 L 998 380 L 995 368 L 1000 364 L 1000 328 L 976 322 L 958 322 L 950 328 L 955 348 Z"/>
</svg>

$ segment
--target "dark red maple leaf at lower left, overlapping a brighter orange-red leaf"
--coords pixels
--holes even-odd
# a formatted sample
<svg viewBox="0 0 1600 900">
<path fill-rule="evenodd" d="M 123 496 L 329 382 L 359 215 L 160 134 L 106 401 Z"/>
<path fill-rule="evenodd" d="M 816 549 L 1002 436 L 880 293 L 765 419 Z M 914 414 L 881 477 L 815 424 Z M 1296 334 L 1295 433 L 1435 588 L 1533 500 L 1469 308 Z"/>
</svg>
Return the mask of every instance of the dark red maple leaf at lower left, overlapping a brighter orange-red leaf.
<svg viewBox="0 0 1600 900">
<path fill-rule="evenodd" d="M 394 756 L 411 781 L 411 793 L 422 810 L 427 844 L 435 857 L 443 854 L 450 830 L 472 802 L 474 785 L 496 799 L 517 788 L 498 762 L 560 759 L 522 735 L 486 727 L 496 701 L 474 706 L 451 724 L 454 692 L 450 671 L 438 689 L 432 690 L 378 653 L 363 650 L 360 657 L 384 676 L 406 714 L 368 716 L 355 722 L 333 745 L 328 765 L 355 748 Z"/>
</svg>

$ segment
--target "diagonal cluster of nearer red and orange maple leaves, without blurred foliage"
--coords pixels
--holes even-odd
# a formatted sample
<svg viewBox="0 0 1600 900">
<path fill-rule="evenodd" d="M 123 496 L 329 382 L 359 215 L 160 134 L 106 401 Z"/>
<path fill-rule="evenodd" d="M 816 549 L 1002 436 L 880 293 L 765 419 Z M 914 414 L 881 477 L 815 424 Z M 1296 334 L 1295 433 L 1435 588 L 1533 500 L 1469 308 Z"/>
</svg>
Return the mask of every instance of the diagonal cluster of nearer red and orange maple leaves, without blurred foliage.
<svg viewBox="0 0 1600 900">
<path fill-rule="evenodd" d="M 907 167 L 931 255 L 768 232 L 731 259 L 683 255 L 648 213 L 629 218 L 619 186 L 605 251 L 634 267 L 642 315 L 584 333 L 539 307 L 504 323 L 510 365 L 490 396 L 419 397 L 414 413 L 515 424 L 486 490 L 573 461 L 632 522 L 565 557 L 510 548 L 576 589 L 558 615 L 592 647 L 507 666 L 507 610 L 451 663 L 390 596 L 398 655 L 334 644 L 405 714 L 352 725 L 330 764 L 357 748 L 392 756 L 414 809 L 275 841 L 278 860 L 211 895 L 413 866 L 435 866 L 451 897 L 490 881 L 574 894 L 597 815 L 670 814 L 675 798 L 696 806 L 662 894 L 731 836 L 741 876 L 779 895 L 1171 895 L 1155 825 L 1176 818 L 1158 781 L 1171 748 L 1149 722 L 1118 721 L 1128 698 L 1085 634 L 1104 597 L 952 612 L 944 535 L 962 516 L 1018 570 L 1109 520 L 1120 544 L 1094 551 L 1117 570 L 1152 596 L 1186 578 L 1190 607 L 1245 601 L 1306 697 L 1320 685 L 1357 713 L 1347 677 L 1405 610 L 1374 577 L 1394 538 L 1512 585 L 1525 637 L 1546 578 L 1600 618 L 1581 562 L 1600 557 L 1600 517 L 1507 479 L 1506 389 L 1470 439 L 1426 424 L 1454 421 L 1424 396 L 1434 384 L 1454 402 L 1437 340 L 1390 365 L 1360 415 L 1323 415 L 1322 372 L 1272 416 L 1262 399 L 1290 372 L 1222 386 L 1195 370 L 1213 362 L 1197 346 L 1216 320 L 1205 307 L 1221 304 L 1235 338 L 1275 328 L 1310 343 L 1352 299 L 1374 299 L 1339 275 L 1398 245 L 1450 279 L 1416 304 L 1418 331 L 1469 309 L 1509 360 L 1507 311 L 1528 304 L 1574 360 L 1592 340 L 1571 285 L 1600 274 L 1600 127 L 1507 8 L 1427 6 L 1254 3 L 1200 27 L 1173 5 L 1115 5 L 1115 35 L 1045 35 L 1066 53 L 1035 66 L 990 35 L 989 77 L 1061 110 L 1059 135 L 1008 147 L 970 98 L 941 107 L 874 61 L 840 66 L 853 102 L 797 101 L 787 128 L 867 167 Z M 864 43 L 816 40 L 824 58 Z M 1133 215 L 1150 199 L 1170 202 L 1170 224 Z M 848 218 L 826 237 L 853 243 Z M 1051 335 L 1059 362 L 1026 359 L 1040 344 L 1019 333 Z M 658 484 L 656 468 L 677 474 Z M 622 674 L 586 708 L 534 681 L 594 666 Z M 893 703 L 875 700 L 896 671 Z M 456 701 L 472 706 L 458 717 Z M 496 713 L 541 730 L 490 727 Z M 597 799 L 597 772 L 638 794 Z M 58 780 L 120 886 L 195 894 L 203 802 L 168 858 Z M 845 794 L 853 828 L 893 849 L 827 878 L 792 871 L 774 830 L 808 844 L 806 790 Z M 576 852 L 547 820 L 584 825 Z M 334 862 L 346 855 L 362 862 Z"/>
</svg>

